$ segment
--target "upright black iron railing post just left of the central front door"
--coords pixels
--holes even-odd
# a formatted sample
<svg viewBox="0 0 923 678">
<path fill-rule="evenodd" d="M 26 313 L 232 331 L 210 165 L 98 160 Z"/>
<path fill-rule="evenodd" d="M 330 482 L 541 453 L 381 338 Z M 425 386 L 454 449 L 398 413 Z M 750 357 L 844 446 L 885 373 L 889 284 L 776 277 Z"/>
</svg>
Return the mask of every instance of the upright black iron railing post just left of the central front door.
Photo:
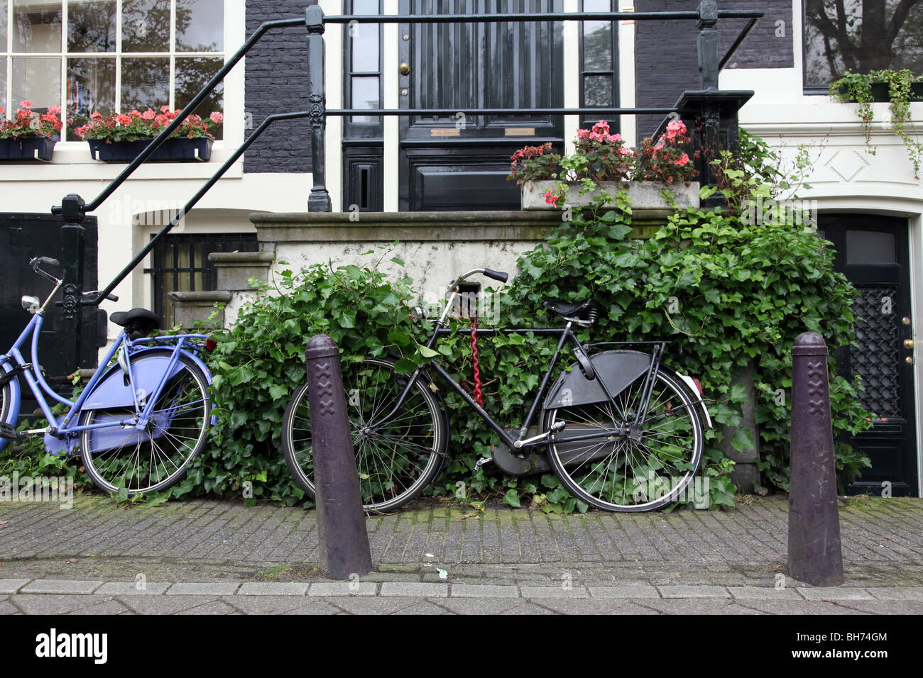
<svg viewBox="0 0 923 678">
<path fill-rule="evenodd" d="M 307 101 L 311 123 L 311 174 L 314 185 L 307 197 L 307 211 L 330 212 L 330 193 L 325 181 L 324 137 L 327 130 L 327 97 L 324 94 L 324 11 L 312 5 L 306 9 Z"/>
</svg>

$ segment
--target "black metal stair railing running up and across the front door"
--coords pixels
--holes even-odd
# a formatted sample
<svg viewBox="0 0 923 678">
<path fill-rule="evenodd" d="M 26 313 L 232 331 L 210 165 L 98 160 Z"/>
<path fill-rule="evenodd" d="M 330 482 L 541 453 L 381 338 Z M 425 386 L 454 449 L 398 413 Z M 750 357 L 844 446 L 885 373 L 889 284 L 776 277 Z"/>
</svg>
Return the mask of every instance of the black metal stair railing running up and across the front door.
<svg viewBox="0 0 923 678">
<path fill-rule="evenodd" d="M 129 163 L 126 168 L 108 184 L 98 196 L 90 203 L 85 203 L 83 198 L 70 194 L 62 199 L 60 206 L 52 208 L 54 214 L 63 217 L 64 224 L 61 228 L 62 257 L 64 259 L 64 316 L 66 334 L 76 339 L 73 358 L 77 364 L 79 355 L 79 337 L 81 324 L 81 306 L 99 305 L 115 287 L 125 280 L 127 275 L 138 267 L 138 264 L 148 256 L 156 244 L 169 233 L 183 219 L 186 212 L 195 207 L 198 201 L 222 178 L 234 162 L 238 161 L 254 141 L 260 137 L 273 123 L 282 120 L 307 118 L 311 128 L 311 160 L 313 186 L 308 196 L 308 211 L 330 211 L 330 194 L 325 185 L 326 163 L 324 152 L 324 133 L 326 121 L 329 116 L 390 116 L 390 115 L 509 115 L 531 116 L 535 114 L 567 115 L 567 114 L 599 114 L 605 115 L 641 115 L 677 113 L 680 116 L 699 116 L 704 120 L 705 132 L 703 137 L 719 137 L 718 127 L 726 111 L 733 109 L 736 116 L 739 107 L 739 92 L 718 91 L 718 74 L 727 63 L 737 47 L 744 41 L 756 21 L 763 16 L 761 10 L 727 10 L 718 9 L 715 0 L 702 0 L 696 11 L 682 12 L 574 12 L 574 13 L 547 13 L 547 14 L 477 14 L 477 15 L 331 15 L 325 16 L 317 5 L 306 8 L 305 18 L 280 19 L 267 21 L 250 36 L 250 38 L 235 52 L 223 65 L 222 69 L 212 77 L 201 91 L 189 101 L 183 111 L 162 132 L 151 140 L 138 157 Z M 748 18 L 747 26 L 741 30 L 727 54 L 718 57 L 718 19 L 722 18 Z M 695 20 L 699 30 L 699 90 L 686 92 L 683 99 L 677 101 L 675 106 L 668 107 L 584 107 L 584 108 L 467 108 L 467 109 L 327 109 L 326 90 L 324 83 L 324 31 L 328 24 L 448 24 L 448 23 L 538 23 L 545 21 L 647 21 L 647 20 Z M 244 143 L 225 161 L 222 166 L 203 184 L 195 196 L 192 196 L 184 208 L 176 213 L 174 218 L 167 223 L 160 232 L 155 234 L 125 268 L 98 294 L 91 299 L 83 299 L 81 280 L 83 280 L 83 250 L 84 232 L 80 225 L 88 212 L 95 211 L 102 203 L 112 196 L 114 191 L 134 173 L 140 165 L 150 158 L 150 155 L 166 141 L 168 137 L 182 125 L 186 117 L 196 110 L 198 104 L 205 100 L 224 77 L 234 68 L 259 39 L 269 30 L 305 26 L 307 31 L 307 76 L 308 76 L 308 110 L 293 113 L 274 113 L 268 116 L 253 133 L 246 138 Z M 737 95 L 737 96 L 735 96 Z M 737 104 L 735 104 L 737 101 Z M 735 117 L 736 125 L 736 117 Z M 736 131 L 731 139 L 734 146 Z M 707 172 L 707 170 L 705 170 Z M 70 357 L 70 356 L 68 356 Z"/>
</svg>

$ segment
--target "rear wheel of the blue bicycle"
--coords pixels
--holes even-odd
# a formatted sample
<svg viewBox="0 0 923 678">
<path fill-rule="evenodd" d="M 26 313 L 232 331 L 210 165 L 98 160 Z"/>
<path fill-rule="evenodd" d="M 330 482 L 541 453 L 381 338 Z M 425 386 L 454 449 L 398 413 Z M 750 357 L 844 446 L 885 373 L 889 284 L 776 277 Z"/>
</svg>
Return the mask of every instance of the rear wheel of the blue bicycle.
<svg viewBox="0 0 923 678">
<path fill-rule="evenodd" d="M 140 373 L 144 361 L 163 363 L 169 354 L 146 351 L 132 361 L 132 371 Z M 205 447 L 211 412 L 208 381 L 186 355 L 179 356 L 176 367 L 144 430 L 117 424 L 136 416 L 134 407 L 85 410 L 80 415 L 82 426 L 113 424 L 80 434 L 83 465 L 100 489 L 114 493 L 125 487 L 129 496 L 166 490 L 186 476 L 189 462 Z"/>
</svg>

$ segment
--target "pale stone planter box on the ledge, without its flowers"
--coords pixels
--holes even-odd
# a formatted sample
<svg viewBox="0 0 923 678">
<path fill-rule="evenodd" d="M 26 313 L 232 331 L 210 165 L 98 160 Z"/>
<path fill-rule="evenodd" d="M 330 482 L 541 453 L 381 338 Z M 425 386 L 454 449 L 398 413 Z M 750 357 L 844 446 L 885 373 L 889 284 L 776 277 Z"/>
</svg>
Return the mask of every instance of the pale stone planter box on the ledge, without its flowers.
<svg viewBox="0 0 923 678">
<path fill-rule="evenodd" d="M 545 194 L 548 190 L 553 190 L 557 182 L 553 181 L 530 181 L 522 184 L 522 208 L 523 209 L 560 209 L 545 202 Z M 631 210 L 638 216 L 656 217 L 666 216 L 673 212 L 674 207 L 668 205 L 661 195 L 661 191 L 666 188 L 676 198 L 677 208 L 698 208 L 699 200 L 699 182 L 661 184 L 660 182 L 599 182 L 598 187 L 592 193 L 580 195 L 581 184 L 570 182 L 569 191 L 565 200 L 567 205 L 572 207 L 585 207 L 593 203 L 593 200 L 602 191 L 607 191 L 610 196 L 615 198 L 619 190 L 625 191 L 631 199 Z M 616 207 L 615 204 L 606 204 L 605 207 Z M 640 214 L 639 214 L 640 213 Z"/>
</svg>

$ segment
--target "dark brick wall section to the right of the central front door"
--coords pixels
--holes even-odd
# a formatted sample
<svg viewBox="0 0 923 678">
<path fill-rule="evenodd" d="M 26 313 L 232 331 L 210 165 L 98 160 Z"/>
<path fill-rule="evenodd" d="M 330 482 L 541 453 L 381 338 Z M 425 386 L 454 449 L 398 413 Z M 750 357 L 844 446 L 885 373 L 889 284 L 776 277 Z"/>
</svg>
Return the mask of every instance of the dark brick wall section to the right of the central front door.
<svg viewBox="0 0 923 678">
<path fill-rule="evenodd" d="M 699 0 L 636 0 L 635 11 L 685 11 Z M 723 0 L 719 9 L 761 9 L 766 14 L 737 48 L 727 68 L 784 68 L 793 65 L 791 0 Z M 777 21 L 784 25 L 776 26 Z M 719 19 L 718 56 L 724 56 L 746 19 Z M 776 32 L 782 34 L 777 37 Z M 672 106 L 685 89 L 699 88 L 693 20 L 638 21 L 635 24 L 635 101 L 638 106 Z M 639 117 L 639 138 L 649 137 L 660 124 L 655 115 Z"/>
</svg>

